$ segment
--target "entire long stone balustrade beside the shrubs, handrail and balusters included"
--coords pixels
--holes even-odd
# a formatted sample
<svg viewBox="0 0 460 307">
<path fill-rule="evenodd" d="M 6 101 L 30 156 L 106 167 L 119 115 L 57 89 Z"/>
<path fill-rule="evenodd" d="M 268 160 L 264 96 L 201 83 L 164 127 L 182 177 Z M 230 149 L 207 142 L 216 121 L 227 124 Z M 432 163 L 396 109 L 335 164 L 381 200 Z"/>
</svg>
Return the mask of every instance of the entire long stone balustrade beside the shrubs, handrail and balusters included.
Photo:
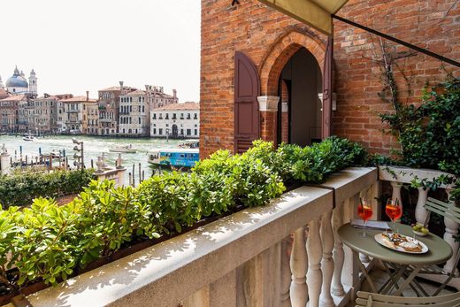
<svg viewBox="0 0 460 307">
<path fill-rule="evenodd" d="M 357 265 L 337 236 L 375 168 L 349 168 L 265 207 L 246 209 L 143 249 L 55 288 L 35 306 L 343 306 L 359 288 Z"/>
</svg>

